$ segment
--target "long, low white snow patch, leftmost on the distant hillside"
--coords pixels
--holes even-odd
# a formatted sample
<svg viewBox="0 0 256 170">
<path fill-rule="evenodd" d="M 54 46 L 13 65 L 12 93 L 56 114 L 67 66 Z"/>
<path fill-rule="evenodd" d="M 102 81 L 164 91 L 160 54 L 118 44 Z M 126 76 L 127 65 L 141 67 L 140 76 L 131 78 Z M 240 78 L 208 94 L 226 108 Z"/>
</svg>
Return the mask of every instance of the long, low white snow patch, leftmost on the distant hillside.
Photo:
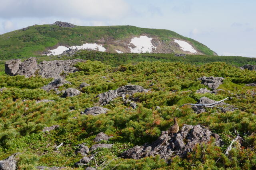
<svg viewBox="0 0 256 170">
<path fill-rule="evenodd" d="M 81 49 L 92 49 L 92 50 L 98 50 L 98 51 L 101 51 L 101 52 L 104 52 L 106 51 L 106 49 L 102 46 L 102 45 L 98 45 L 96 43 L 86 43 L 86 44 L 83 44 L 81 46 L 79 45 L 74 45 L 74 46 L 71 46 L 71 47 L 65 47 L 65 46 L 59 46 L 58 48 L 56 49 L 53 49 L 53 50 L 50 50 L 50 52 L 52 53 L 49 53 L 47 55 L 61 55 L 64 51 L 68 50 L 68 49 L 78 49 L 78 50 L 81 50 Z"/>
</svg>

